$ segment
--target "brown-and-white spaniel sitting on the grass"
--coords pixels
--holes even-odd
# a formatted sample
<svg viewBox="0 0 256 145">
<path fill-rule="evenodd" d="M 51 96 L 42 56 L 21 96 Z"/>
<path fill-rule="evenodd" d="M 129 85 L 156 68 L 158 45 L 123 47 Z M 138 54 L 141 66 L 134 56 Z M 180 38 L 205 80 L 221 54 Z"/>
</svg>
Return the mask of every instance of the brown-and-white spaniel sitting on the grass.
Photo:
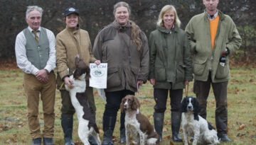
<svg viewBox="0 0 256 145">
<path fill-rule="evenodd" d="M 130 134 L 136 138 L 134 144 L 153 145 L 159 144 L 159 136 L 146 116 L 139 112 L 139 100 L 134 95 L 127 95 L 122 99 L 121 111 L 125 112 L 126 144 L 130 144 Z"/>
</svg>

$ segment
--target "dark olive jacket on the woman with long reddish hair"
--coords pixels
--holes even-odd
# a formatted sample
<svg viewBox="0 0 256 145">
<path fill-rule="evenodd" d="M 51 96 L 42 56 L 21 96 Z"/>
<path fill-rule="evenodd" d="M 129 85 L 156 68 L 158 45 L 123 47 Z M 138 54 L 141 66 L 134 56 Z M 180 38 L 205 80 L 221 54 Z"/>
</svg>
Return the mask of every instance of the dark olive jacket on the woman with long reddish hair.
<svg viewBox="0 0 256 145">
<path fill-rule="evenodd" d="M 130 22 L 131 23 L 131 22 Z M 107 63 L 106 91 L 137 91 L 137 80 L 146 83 L 149 76 L 149 46 L 146 35 L 140 31 L 142 48 L 137 50 L 129 33 L 130 23 L 122 27 L 116 21 L 105 26 L 97 34 L 93 54 L 102 63 Z M 130 58 L 129 58 L 130 56 Z"/>
</svg>

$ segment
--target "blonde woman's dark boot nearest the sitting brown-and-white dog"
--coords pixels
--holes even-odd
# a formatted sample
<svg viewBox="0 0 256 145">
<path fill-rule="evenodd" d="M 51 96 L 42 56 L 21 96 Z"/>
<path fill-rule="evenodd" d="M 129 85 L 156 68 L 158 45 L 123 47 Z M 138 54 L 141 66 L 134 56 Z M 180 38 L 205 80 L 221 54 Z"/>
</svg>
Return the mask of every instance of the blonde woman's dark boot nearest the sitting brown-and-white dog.
<svg viewBox="0 0 256 145">
<path fill-rule="evenodd" d="M 162 132 L 164 127 L 164 112 L 154 112 L 154 128 L 159 135 L 159 141 L 162 141 Z"/>
</svg>

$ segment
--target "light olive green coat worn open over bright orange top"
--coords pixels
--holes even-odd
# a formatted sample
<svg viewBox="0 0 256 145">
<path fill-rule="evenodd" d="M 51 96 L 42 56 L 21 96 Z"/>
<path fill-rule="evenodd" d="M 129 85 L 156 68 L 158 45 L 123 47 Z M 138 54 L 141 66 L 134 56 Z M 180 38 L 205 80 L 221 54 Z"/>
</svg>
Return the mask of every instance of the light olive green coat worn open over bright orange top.
<svg viewBox="0 0 256 145">
<path fill-rule="evenodd" d="M 230 16 L 221 11 L 218 11 L 218 14 L 220 21 L 213 51 L 210 40 L 210 23 L 206 11 L 193 16 L 186 25 L 186 33 L 193 51 L 193 74 L 195 80 L 198 81 L 207 81 L 209 70 L 211 70 L 210 77 L 213 83 L 228 81 L 230 76 L 228 57 L 226 57 L 225 66 L 220 65 L 220 57 L 226 47 L 230 53 L 238 50 L 242 41 Z"/>
</svg>

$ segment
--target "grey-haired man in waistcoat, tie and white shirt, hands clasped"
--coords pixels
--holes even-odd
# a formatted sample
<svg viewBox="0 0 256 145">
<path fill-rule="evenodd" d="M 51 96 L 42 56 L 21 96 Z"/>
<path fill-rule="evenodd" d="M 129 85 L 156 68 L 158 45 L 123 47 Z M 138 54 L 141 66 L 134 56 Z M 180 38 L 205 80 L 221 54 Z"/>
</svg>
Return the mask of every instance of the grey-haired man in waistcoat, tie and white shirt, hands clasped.
<svg viewBox="0 0 256 145">
<path fill-rule="evenodd" d="M 28 28 L 18 33 L 15 53 L 18 67 L 22 69 L 23 88 L 27 97 L 28 128 L 33 145 L 53 145 L 55 104 L 55 36 L 52 31 L 41 27 L 43 9 L 28 6 L 26 22 Z M 43 134 L 38 119 L 39 95 L 43 102 Z"/>
</svg>

